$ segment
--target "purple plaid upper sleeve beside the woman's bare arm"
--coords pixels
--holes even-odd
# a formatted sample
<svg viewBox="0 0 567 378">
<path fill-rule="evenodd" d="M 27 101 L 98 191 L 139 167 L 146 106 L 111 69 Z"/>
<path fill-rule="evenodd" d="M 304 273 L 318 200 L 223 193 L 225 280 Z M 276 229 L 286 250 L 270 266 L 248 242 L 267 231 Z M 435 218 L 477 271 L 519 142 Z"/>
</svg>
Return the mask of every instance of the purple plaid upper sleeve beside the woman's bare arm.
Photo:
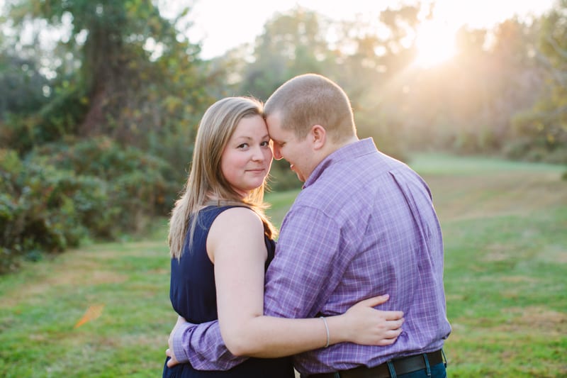
<svg viewBox="0 0 567 378">
<path fill-rule="evenodd" d="M 341 254 L 343 247 L 337 221 L 321 209 L 294 206 L 283 220 L 276 255 L 266 272 L 264 314 L 317 316 L 349 263 Z"/>
</svg>

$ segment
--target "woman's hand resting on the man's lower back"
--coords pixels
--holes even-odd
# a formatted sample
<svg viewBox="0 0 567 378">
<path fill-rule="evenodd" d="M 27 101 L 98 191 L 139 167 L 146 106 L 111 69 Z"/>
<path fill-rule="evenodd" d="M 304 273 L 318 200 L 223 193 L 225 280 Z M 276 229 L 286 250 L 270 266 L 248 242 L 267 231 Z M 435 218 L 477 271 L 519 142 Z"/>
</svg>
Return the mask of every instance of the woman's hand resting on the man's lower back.
<svg viewBox="0 0 567 378">
<path fill-rule="evenodd" d="M 344 336 L 351 343 L 361 345 L 391 345 L 402 333 L 402 311 L 381 311 L 374 306 L 388 301 L 388 294 L 359 301 L 346 313 L 342 325 Z"/>
</svg>

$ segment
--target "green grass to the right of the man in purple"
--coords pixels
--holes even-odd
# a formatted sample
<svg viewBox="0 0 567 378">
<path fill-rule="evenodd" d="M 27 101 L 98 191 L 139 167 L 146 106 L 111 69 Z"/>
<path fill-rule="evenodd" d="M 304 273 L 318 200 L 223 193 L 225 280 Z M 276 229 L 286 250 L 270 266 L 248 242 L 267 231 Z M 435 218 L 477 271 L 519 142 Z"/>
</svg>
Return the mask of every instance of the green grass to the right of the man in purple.
<svg viewBox="0 0 567 378">
<path fill-rule="evenodd" d="M 450 377 L 567 375 L 565 167 L 421 155 L 445 243 Z"/>
</svg>

